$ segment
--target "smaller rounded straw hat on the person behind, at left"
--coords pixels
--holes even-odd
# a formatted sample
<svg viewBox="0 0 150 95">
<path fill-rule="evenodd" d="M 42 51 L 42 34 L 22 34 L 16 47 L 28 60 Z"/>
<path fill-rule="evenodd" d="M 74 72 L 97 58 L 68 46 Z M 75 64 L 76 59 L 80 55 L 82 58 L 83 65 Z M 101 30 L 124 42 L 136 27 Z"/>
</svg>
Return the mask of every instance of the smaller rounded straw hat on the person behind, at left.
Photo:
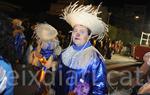
<svg viewBox="0 0 150 95">
<path fill-rule="evenodd" d="M 58 35 L 57 30 L 53 26 L 47 23 L 37 24 L 35 26 L 34 37 L 38 40 L 44 42 L 50 41 L 53 38 L 55 38 L 57 35 Z"/>
</svg>

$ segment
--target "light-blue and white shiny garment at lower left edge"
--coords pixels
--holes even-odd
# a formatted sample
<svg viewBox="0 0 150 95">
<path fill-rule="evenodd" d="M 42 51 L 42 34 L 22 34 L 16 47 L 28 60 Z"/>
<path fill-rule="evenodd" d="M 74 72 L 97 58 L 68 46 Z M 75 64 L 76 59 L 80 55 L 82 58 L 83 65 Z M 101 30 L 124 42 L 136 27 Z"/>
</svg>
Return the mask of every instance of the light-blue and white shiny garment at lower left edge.
<svg viewBox="0 0 150 95">
<path fill-rule="evenodd" d="M 14 95 L 14 75 L 11 65 L 0 56 L 0 95 Z"/>
</svg>

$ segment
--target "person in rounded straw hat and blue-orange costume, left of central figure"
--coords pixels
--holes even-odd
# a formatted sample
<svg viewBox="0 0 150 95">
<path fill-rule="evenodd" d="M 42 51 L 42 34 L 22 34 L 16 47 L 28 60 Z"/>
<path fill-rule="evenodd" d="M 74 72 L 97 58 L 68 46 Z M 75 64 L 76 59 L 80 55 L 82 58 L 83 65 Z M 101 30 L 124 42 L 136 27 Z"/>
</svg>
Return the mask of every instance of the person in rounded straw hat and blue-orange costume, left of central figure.
<svg viewBox="0 0 150 95">
<path fill-rule="evenodd" d="M 40 83 L 39 90 L 41 91 L 38 91 L 38 95 L 40 95 L 40 93 L 47 93 L 43 90 L 43 81 L 47 69 L 51 68 L 52 71 L 55 71 L 56 59 L 61 52 L 61 47 L 57 39 L 58 32 L 51 25 L 47 23 L 37 24 L 34 30 L 33 37 L 36 39 L 37 46 L 30 46 L 28 62 L 39 72 L 38 81 Z"/>
</svg>

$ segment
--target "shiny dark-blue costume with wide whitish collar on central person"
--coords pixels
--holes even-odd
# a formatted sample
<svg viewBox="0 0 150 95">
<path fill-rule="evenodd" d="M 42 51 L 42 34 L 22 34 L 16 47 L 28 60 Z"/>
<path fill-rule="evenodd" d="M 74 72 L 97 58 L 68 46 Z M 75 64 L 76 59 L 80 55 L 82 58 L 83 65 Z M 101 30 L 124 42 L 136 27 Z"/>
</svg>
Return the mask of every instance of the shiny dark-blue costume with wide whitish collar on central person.
<svg viewBox="0 0 150 95">
<path fill-rule="evenodd" d="M 61 54 L 55 79 L 56 95 L 107 93 L 104 59 L 90 42 L 83 46 L 73 44 Z"/>
</svg>

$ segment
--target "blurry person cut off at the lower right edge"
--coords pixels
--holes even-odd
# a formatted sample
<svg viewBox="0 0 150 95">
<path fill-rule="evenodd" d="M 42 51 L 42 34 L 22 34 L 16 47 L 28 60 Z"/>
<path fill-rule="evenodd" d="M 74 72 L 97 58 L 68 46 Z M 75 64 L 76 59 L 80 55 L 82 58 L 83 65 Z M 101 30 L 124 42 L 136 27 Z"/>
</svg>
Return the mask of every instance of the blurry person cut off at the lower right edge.
<svg viewBox="0 0 150 95">
<path fill-rule="evenodd" d="M 150 70 L 150 52 L 144 54 L 143 61 L 144 63 L 139 70 L 140 76 L 138 76 L 138 80 L 134 79 L 133 81 L 131 95 L 150 95 L 150 82 L 148 79 L 145 79 L 146 76 L 149 76 L 148 72 Z M 144 80 L 142 80 L 142 78 Z"/>
</svg>

